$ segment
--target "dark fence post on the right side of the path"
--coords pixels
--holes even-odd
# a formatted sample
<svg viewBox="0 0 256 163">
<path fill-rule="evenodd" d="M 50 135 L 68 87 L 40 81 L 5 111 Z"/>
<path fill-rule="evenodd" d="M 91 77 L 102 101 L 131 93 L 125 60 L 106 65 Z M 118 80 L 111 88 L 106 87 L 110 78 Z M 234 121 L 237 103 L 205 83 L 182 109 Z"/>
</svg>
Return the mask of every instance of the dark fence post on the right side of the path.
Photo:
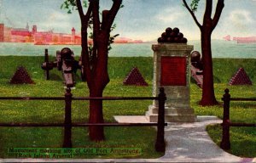
<svg viewBox="0 0 256 163">
<path fill-rule="evenodd" d="M 230 90 L 225 89 L 222 100 L 224 101 L 224 113 L 222 123 L 221 149 L 230 149 Z"/>
</svg>

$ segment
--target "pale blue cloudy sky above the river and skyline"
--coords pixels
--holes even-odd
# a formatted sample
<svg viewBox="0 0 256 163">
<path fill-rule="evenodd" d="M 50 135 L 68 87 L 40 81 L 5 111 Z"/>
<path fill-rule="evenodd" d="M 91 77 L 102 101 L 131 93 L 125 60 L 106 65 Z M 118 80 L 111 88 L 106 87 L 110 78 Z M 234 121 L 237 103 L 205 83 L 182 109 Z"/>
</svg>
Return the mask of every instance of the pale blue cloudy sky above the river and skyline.
<svg viewBox="0 0 256 163">
<path fill-rule="evenodd" d="M 38 25 L 38 31 L 71 33 L 80 29 L 79 14 L 67 14 L 61 9 L 64 0 L 0 0 L 0 21 L 15 28 L 25 28 L 26 23 Z M 187 0 L 191 3 L 192 0 Z M 212 15 L 217 0 L 213 0 Z M 225 6 L 212 39 L 231 37 L 256 37 L 256 0 L 225 0 Z M 112 35 L 129 37 L 133 40 L 155 41 L 166 27 L 178 27 L 184 37 L 199 40 L 201 32 L 182 0 L 123 0 L 116 16 L 117 28 Z M 101 10 L 109 9 L 112 0 L 101 0 Z M 205 10 L 205 0 L 200 1 L 195 13 L 199 22 Z"/>
</svg>

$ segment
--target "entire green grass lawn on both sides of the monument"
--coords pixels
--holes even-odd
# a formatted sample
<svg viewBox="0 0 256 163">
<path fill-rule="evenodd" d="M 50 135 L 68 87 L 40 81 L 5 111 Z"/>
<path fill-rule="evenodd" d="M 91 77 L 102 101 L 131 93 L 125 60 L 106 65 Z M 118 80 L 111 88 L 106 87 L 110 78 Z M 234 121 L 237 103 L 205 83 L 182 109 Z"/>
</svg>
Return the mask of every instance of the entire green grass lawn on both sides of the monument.
<svg viewBox="0 0 256 163">
<path fill-rule="evenodd" d="M 53 60 L 53 59 L 51 59 Z M 40 65 L 44 57 L 0 57 L 0 96 L 62 96 L 64 88 L 61 72 L 50 71 L 50 81 L 44 80 L 44 71 Z M 104 96 L 152 96 L 153 78 L 152 58 L 109 58 L 108 72 L 111 82 L 104 91 Z M 256 97 L 256 87 L 230 87 L 227 83 L 232 74 L 242 66 L 256 83 L 256 59 L 214 59 L 215 93 L 219 102 L 226 87 L 232 97 Z M 36 82 L 34 85 L 9 85 L 9 79 L 16 67 L 23 65 Z M 122 82 L 133 66 L 137 66 L 149 84 L 149 87 L 125 87 Z M 85 83 L 77 76 L 73 96 L 88 96 Z M 201 89 L 191 84 L 191 106 L 196 115 L 217 115 L 222 118 L 222 106 L 201 107 Z M 113 115 L 144 115 L 151 101 L 111 101 L 104 102 L 105 121 L 112 122 Z M 0 101 L 0 122 L 62 122 L 63 101 Z M 88 102 L 73 102 L 73 122 L 88 121 Z M 231 102 L 230 119 L 236 122 L 256 123 L 256 104 Z M 208 126 L 213 141 L 220 143 L 219 126 Z M 0 127 L 0 158 L 8 158 L 9 148 L 61 148 L 61 127 Z M 157 158 L 163 155 L 154 151 L 156 132 L 152 127 L 105 127 L 106 141 L 91 143 L 86 127 L 73 128 L 73 147 L 121 147 L 142 149 L 141 155 L 81 155 L 78 158 Z M 231 127 L 230 153 L 244 157 L 256 157 L 255 127 Z"/>
</svg>

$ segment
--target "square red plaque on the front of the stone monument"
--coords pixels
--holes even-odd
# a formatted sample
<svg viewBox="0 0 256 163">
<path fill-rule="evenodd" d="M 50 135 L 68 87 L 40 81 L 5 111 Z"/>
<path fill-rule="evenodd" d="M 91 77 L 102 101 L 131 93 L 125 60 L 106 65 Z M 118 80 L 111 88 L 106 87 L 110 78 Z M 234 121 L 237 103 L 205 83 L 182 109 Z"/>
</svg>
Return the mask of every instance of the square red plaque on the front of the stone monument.
<svg viewBox="0 0 256 163">
<path fill-rule="evenodd" d="M 161 86 L 186 86 L 186 58 L 161 58 Z"/>
</svg>

